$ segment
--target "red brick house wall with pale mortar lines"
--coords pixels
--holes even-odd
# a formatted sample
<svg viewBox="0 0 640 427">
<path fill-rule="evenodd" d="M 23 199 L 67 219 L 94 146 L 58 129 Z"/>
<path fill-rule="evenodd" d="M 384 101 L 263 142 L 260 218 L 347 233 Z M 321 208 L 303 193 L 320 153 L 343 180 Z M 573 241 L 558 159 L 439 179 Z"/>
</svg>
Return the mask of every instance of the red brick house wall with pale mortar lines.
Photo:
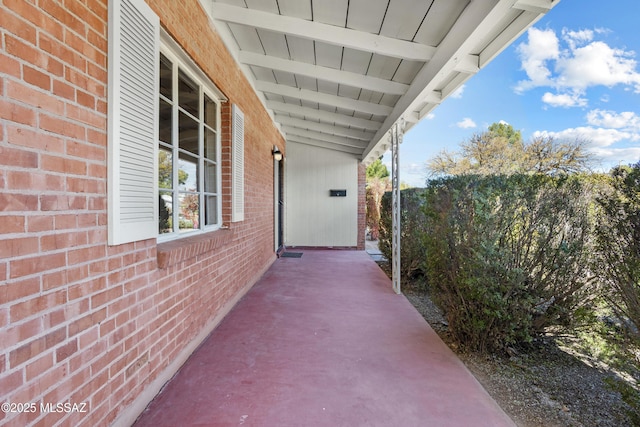
<svg viewBox="0 0 640 427">
<path fill-rule="evenodd" d="M 108 246 L 107 1 L 1 0 L 0 401 L 88 412 L 0 412 L 0 424 L 113 422 L 273 261 L 271 148 L 284 142 L 197 0 L 148 3 L 229 98 L 223 115 L 245 114 L 245 221 L 229 223 L 225 167 L 230 230 L 214 250 Z"/>
</svg>

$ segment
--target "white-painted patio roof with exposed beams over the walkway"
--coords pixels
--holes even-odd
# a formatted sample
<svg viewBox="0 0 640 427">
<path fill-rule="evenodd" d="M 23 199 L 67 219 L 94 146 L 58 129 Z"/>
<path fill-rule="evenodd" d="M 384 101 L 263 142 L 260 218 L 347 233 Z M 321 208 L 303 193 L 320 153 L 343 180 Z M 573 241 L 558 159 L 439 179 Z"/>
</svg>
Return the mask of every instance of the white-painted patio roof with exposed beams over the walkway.
<svg viewBox="0 0 640 427">
<path fill-rule="evenodd" d="M 200 1 L 287 142 L 370 163 L 560 0 Z"/>
</svg>

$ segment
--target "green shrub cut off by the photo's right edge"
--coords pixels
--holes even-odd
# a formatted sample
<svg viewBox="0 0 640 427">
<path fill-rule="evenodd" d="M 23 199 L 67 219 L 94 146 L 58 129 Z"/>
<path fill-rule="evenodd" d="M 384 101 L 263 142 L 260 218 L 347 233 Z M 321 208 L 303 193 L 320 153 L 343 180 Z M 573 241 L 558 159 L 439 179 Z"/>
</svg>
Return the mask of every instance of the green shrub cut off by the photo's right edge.
<svg viewBox="0 0 640 427">
<path fill-rule="evenodd" d="M 596 268 L 617 316 L 640 328 L 640 163 L 614 168 L 611 189 L 598 198 Z"/>
</svg>

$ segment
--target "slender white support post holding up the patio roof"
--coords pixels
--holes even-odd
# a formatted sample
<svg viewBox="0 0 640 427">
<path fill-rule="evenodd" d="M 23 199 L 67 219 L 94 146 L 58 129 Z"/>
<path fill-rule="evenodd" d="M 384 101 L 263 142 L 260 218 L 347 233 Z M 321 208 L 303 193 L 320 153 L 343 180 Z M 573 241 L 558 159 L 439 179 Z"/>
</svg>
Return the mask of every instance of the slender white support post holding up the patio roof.
<svg viewBox="0 0 640 427">
<path fill-rule="evenodd" d="M 393 290 L 400 294 L 400 144 L 404 133 L 404 119 L 391 127 L 391 275 Z"/>
</svg>

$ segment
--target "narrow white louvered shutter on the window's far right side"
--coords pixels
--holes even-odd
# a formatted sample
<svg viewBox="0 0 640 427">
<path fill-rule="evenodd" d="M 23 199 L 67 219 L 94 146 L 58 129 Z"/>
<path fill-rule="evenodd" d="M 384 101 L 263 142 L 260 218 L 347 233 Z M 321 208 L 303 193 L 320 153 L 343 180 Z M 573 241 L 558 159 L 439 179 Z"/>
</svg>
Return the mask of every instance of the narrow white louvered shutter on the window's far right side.
<svg viewBox="0 0 640 427">
<path fill-rule="evenodd" d="M 232 108 L 232 206 L 231 221 L 244 221 L 244 114 L 237 105 Z"/>
</svg>

